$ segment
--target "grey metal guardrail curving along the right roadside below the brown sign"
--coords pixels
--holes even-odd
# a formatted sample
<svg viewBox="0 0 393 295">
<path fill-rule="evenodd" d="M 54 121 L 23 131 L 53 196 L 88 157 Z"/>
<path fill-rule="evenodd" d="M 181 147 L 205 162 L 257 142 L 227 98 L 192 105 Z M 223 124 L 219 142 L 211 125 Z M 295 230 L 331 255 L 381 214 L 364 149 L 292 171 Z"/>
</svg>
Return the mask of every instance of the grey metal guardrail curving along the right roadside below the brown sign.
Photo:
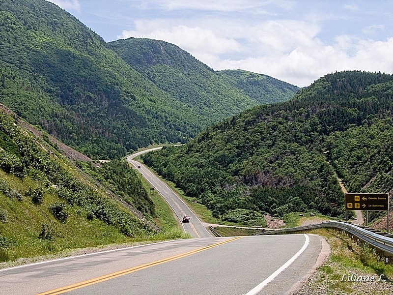
<svg viewBox="0 0 393 295">
<path fill-rule="evenodd" d="M 318 224 L 299 226 L 296 228 L 282 229 L 271 232 L 266 232 L 258 235 L 274 235 L 274 234 L 284 234 L 291 232 L 299 232 L 304 230 L 318 229 L 324 227 L 332 227 L 344 230 L 347 233 L 350 233 L 354 236 L 357 236 L 361 240 L 366 243 L 372 245 L 373 247 L 384 251 L 385 253 L 389 253 L 393 255 L 393 235 L 389 235 L 387 233 L 379 232 L 371 228 L 365 229 L 364 227 L 360 227 L 357 225 L 353 225 L 346 222 L 341 221 L 326 221 Z M 372 231 L 370 231 L 372 230 Z M 377 234 L 378 233 L 378 234 Z M 392 236 L 392 237 L 391 237 Z"/>
</svg>

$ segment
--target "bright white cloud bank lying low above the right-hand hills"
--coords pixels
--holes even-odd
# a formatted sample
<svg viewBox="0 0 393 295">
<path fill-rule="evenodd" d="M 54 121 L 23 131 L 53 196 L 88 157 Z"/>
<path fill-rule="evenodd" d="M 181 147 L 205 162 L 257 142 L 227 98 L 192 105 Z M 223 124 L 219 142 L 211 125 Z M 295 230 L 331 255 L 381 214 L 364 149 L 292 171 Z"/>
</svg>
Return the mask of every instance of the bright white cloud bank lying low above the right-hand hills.
<svg viewBox="0 0 393 295">
<path fill-rule="evenodd" d="M 328 73 L 346 70 L 393 72 L 393 38 L 386 41 L 358 40 L 347 36 L 335 45 L 316 42 L 310 47 L 297 47 L 290 54 L 241 60 L 221 60 L 214 69 L 246 69 L 263 73 L 297 86 L 308 86 Z M 342 40 L 346 40 L 343 45 Z M 355 48 L 355 49 L 353 49 Z M 354 50 L 354 52 L 352 52 Z"/>
</svg>

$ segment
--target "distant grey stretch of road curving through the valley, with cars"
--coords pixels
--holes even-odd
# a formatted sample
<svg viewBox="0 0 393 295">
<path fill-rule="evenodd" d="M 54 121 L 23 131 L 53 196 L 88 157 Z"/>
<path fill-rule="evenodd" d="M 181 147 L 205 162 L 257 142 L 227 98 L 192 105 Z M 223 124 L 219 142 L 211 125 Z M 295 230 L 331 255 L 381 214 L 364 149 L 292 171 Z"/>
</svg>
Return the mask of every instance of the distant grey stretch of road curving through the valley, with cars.
<svg viewBox="0 0 393 295">
<path fill-rule="evenodd" d="M 174 214 L 178 218 L 179 222 L 182 224 L 183 230 L 186 233 L 189 233 L 192 237 L 211 237 L 212 235 L 207 231 L 207 229 L 203 226 L 197 215 L 180 199 L 180 197 L 173 192 L 168 185 L 161 181 L 158 177 L 156 177 L 145 165 L 140 164 L 133 160 L 135 157 L 149 152 L 153 150 L 158 150 L 160 148 L 150 148 L 146 150 L 142 150 L 136 152 L 127 157 L 127 161 L 131 163 L 138 171 L 142 174 L 147 181 L 154 187 L 154 189 L 163 196 L 163 198 L 167 201 L 169 206 L 172 208 Z M 138 168 L 140 167 L 140 168 Z M 183 216 L 190 216 L 189 223 L 183 223 Z"/>
</svg>

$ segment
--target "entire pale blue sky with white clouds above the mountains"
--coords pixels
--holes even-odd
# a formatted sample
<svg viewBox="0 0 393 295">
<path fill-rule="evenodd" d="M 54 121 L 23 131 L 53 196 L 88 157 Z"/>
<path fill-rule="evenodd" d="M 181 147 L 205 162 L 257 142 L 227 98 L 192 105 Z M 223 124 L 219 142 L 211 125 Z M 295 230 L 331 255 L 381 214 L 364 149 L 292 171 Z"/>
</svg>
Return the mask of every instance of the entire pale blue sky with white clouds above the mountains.
<svg viewBox="0 0 393 295">
<path fill-rule="evenodd" d="M 164 40 L 215 70 L 303 87 L 335 71 L 393 73 L 391 0 L 50 0 L 106 41 Z"/>
</svg>

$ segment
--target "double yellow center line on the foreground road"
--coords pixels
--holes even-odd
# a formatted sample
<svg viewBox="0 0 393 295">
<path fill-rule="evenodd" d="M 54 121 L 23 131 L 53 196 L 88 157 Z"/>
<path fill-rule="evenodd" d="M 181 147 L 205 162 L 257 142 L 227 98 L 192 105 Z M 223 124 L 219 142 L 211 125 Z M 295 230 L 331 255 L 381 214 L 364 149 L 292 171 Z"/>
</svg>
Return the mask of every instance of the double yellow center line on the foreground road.
<svg viewBox="0 0 393 295">
<path fill-rule="evenodd" d="M 206 247 L 203 247 L 203 248 L 199 248 L 199 249 L 192 250 L 192 251 L 189 251 L 189 252 L 186 252 L 186 253 L 178 254 L 178 255 L 175 255 L 175 256 L 172 256 L 172 257 L 164 258 L 164 259 L 157 260 L 157 261 L 154 261 L 154 262 L 150 262 L 150 263 L 147 263 L 147 264 L 143 264 L 143 265 L 140 265 L 140 266 L 134 266 L 134 267 L 131 267 L 131 268 L 123 269 L 123 270 L 120 270 L 120 271 L 117 271 L 117 272 L 113 272 L 113 273 L 110 273 L 110 274 L 107 274 L 107 275 L 104 275 L 104 276 L 100 276 L 100 277 L 97 277 L 97 278 L 94 278 L 94 279 L 91 279 L 91 280 L 87 280 L 87 281 L 80 282 L 80 283 L 77 283 L 77 284 L 65 286 L 65 287 L 58 288 L 58 289 L 55 289 L 55 290 L 52 290 L 52 291 L 47 291 L 47 292 L 44 292 L 44 293 L 40 293 L 38 295 L 56 295 L 56 294 L 62 294 L 62 293 L 65 293 L 65 292 L 70 292 L 70 291 L 73 291 L 73 290 L 76 290 L 76 289 L 80 289 L 80 288 L 83 288 L 83 287 L 86 287 L 86 286 L 90 286 L 90 285 L 98 284 L 98 283 L 101 283 L 101 282 L 104 282 L 104 281 L 108 281 L 108 280 L 117 278 L 119 276 L 126 275 L 126 274 L 129 274 L 129 273 L 132 273 L 132 272 L 144 269 L 144 268 L 148 268 L 148 267 L 151 267 L 151 266 L 157 266 L 157 265 L 160 265 L 160 264 L 163 264 L 163 263 L 166 263 L 166 262 L 169 262 L 169 261 L 173 261 L 173 260 L 176 260 L 176 259 L 179 259 L 179 258 L 182 258 L 182 257 L 193 255 L 193 254 L 196 254 L 198 252 L 202 252 L 202 251 L 211 249 L 213 247 L 217 247 L 217 246 L 220 246 L 220 245 L 232 242 L 232 241 L 237 240 L 237 239 L 239 239 L 241 237 L 242 236 L 237 236 L 237 237 L 228 239 L 226 241 L 219 242 L 219 243 L 216 243 L 216 244 L 212 244 L 212 245 L 209 245 L 209 246 L 206 246 Z"/>
</svg>

